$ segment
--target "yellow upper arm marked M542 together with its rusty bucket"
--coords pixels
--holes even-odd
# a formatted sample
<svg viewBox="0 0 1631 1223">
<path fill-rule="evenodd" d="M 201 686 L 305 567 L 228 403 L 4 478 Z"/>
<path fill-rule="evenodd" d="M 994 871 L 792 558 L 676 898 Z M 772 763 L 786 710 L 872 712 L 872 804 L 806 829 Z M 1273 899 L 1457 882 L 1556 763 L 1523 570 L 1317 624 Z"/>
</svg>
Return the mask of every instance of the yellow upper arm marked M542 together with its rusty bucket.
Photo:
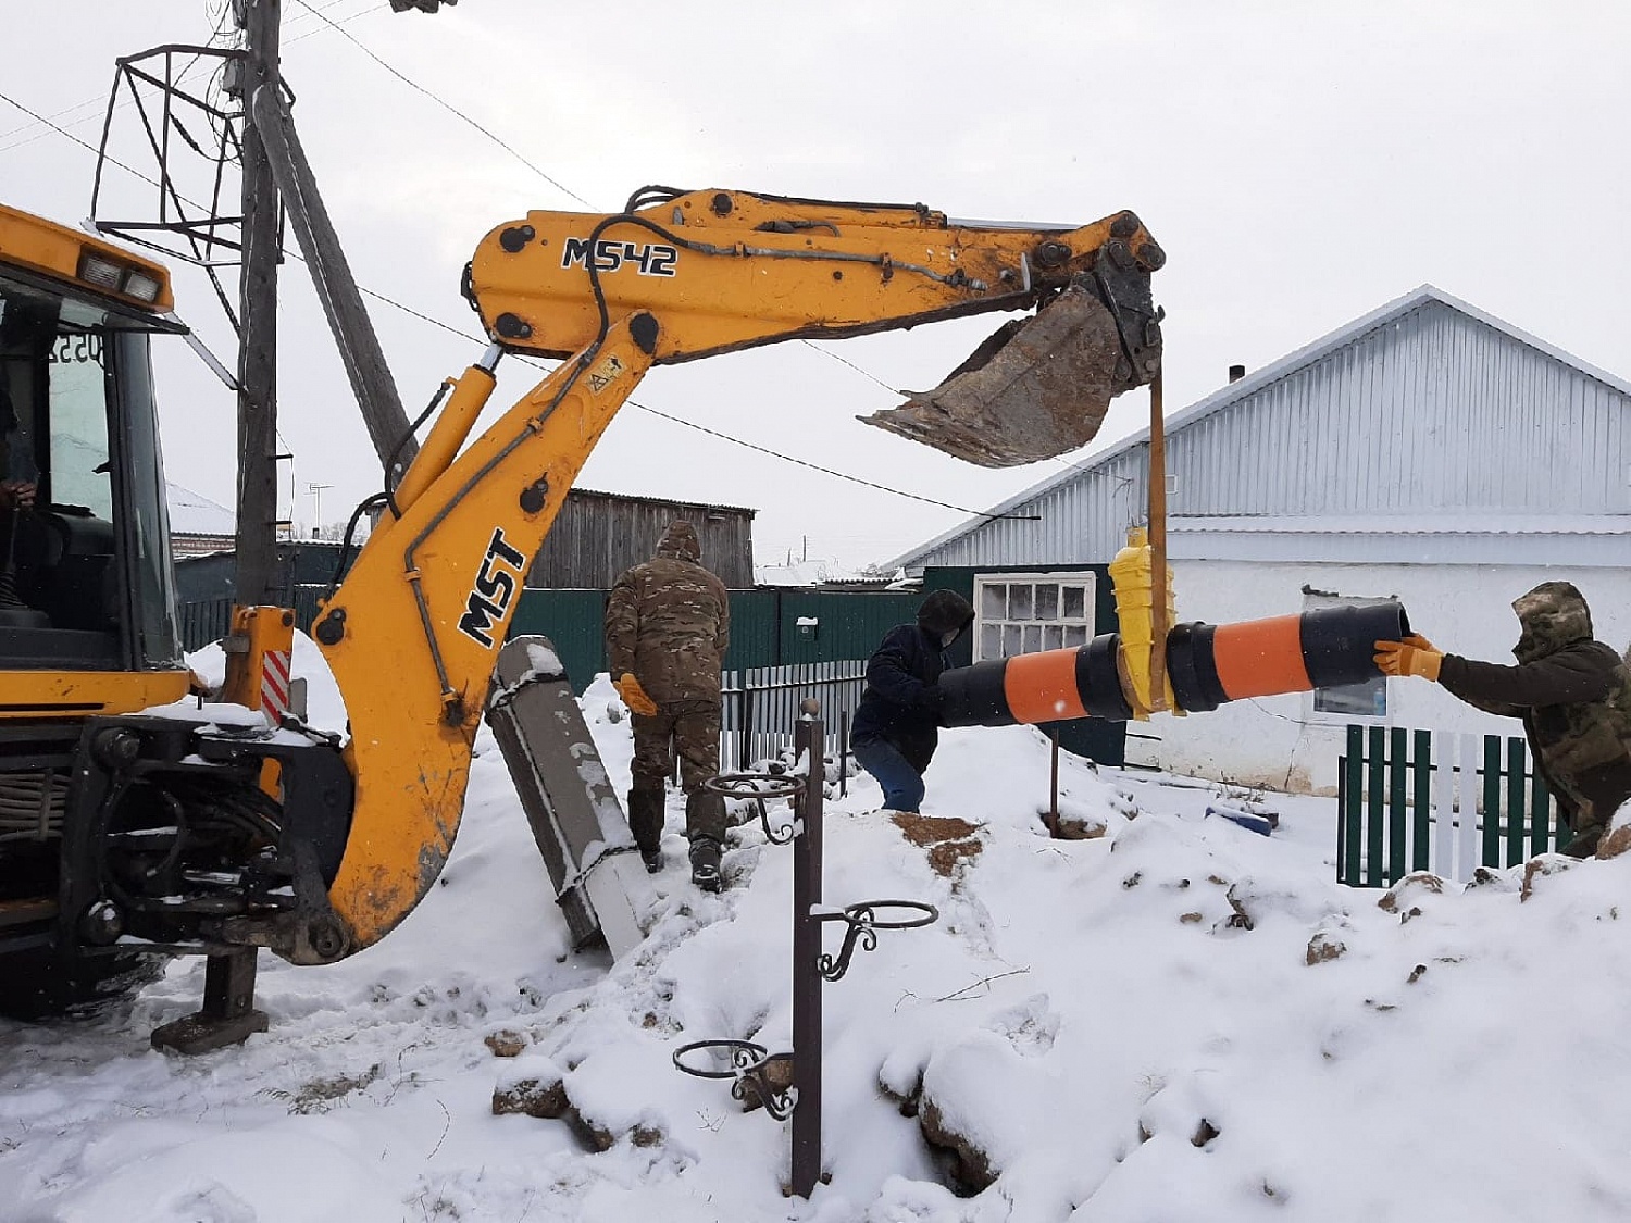
<svg viewBox="0 0 1631 1223">
<path fill-rule="evenodd" d="M 1063 228 L 740 191 L 630 204 L 532 212 L 488 233 L 465 292 L 496 342 L 564 357 L 608 318 L 649 310 L 662 365 L 1039 308 L 935 390 L 864 417 L 982 466 L 1086 445 L 1109 401 L 1160 369 L 1150 274 L 1166 256 L 1130 212 Z"/>
</svg>

